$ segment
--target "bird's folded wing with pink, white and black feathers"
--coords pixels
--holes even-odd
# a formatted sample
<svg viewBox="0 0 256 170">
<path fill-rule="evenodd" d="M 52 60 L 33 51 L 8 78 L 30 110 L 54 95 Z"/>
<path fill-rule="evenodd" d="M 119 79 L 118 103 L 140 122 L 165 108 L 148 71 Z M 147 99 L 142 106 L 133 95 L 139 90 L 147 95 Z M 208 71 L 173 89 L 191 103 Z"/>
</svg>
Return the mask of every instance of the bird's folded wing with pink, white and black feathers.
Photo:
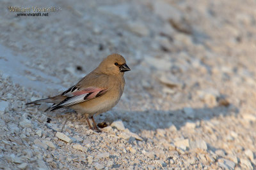
<svg viewBox="0 0 256 170">
<path fill-rule="evenodd" d="M 51 111 L 89 101 L 106 94 L 107 91 L 108 89 L 102 89 L 99 87 L 87 87 L 86 89 L 79 89 L 76 86 L 72 86 L 70 89 L 61 94 L 62 96 L 67 96 L 67 98 L 61 101 L 61 103 L 52 106 Z"/>
</svg>

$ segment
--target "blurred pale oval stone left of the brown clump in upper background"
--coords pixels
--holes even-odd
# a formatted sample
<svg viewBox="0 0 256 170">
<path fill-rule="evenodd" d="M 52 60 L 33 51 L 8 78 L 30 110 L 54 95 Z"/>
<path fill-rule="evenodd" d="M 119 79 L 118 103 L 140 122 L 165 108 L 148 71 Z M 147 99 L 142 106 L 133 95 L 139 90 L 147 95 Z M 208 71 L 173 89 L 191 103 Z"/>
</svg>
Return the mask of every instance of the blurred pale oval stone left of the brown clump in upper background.
<svg viewBox="0 0 256 170">
<path fill-rule="evenodd" d="M 142 22 L 129 22 L 127 29 L 138 36 L 148 36 L 149 34 L 148 28 Z"/>
</svg>

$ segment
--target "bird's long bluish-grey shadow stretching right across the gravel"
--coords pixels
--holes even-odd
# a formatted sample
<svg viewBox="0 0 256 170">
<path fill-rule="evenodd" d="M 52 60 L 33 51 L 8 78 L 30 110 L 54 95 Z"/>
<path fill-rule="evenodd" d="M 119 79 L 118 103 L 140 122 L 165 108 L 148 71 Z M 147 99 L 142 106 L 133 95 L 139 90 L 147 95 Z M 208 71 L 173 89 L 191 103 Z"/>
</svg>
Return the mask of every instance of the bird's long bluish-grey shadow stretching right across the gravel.
<svg viewBox="0 0 256 170">
<path fill-rule="evenodd" d="M 192 109 L 192 110 L 191 110 Z M 122 120 L 125 127 L 132 132 L 141 132 L 143 130 L 155 131 L 156 129 L 166 129 L 171 125 L 179 130 L 187 122 L 200 122 L 200 120 L 211 120 L 214 117 L 227 117 L 228 115 L 237 115 L 238 108 L 230 106 L 215 106 L 212 108 L 190 108 L 190 113 L 184 109 L 159 111 L 113 111 L 113 113 L 99 115 L 98 122 L 107 122 L 111 124 L 115 120 Z"/>
</svg>

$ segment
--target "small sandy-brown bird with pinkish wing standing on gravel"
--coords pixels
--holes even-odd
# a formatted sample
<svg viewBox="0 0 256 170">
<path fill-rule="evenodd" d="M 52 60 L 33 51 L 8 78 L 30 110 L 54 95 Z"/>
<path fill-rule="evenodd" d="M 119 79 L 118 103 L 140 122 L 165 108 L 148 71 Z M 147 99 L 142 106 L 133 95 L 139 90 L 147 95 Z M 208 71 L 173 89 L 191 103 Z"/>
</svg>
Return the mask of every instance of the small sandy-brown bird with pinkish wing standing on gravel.
<svg viewBox="0 0 256 170">
<path fill-rule="evenodd" d="M 93 116 L 111 110 L 118 103 L 124 92 L 124 72 L 130 70 L 124 57 L 113 53 L 65 92 L 26 104 L 53 103 L 51 111 L 64 107 L 72 108 L 85 115 L 90 129 L 94 127 L 98 131 Z M 92 118 L 93 127 L 89 118 Z"/>
</svg>

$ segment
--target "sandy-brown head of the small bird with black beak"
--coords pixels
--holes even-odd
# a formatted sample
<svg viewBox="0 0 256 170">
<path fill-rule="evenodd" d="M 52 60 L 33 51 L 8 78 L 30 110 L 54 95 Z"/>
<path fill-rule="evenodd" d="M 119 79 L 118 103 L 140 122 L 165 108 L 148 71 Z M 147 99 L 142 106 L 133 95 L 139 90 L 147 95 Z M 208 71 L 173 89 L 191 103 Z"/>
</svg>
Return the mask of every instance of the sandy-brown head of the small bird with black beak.
<svg viewBox="0 0 256 170">
<path fill-rule="evenodd" d="M 99 67 L 97 67 L 100 72 L 104 74 L 112 75 L 124 75 L 125 71 L 130 71 L 131 69 L 127 66 L 124 57 L 118 53 L 113 53 L 102 60 Z"/>
</svg>

